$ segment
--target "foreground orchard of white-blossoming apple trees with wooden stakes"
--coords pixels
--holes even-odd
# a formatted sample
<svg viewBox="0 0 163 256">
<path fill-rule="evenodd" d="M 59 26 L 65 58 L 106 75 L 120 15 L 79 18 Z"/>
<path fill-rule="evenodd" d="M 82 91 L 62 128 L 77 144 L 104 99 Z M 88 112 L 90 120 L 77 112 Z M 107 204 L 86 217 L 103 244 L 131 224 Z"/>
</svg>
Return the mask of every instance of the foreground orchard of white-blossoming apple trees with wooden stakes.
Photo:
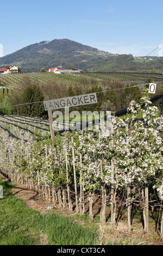
<svg viewBox="0 0 163 256">
<path fill-rule="evenodd" d="M 48 120 L 2 116 L 1 171 L 60 210 L 99 220 L 100 244 L 106 233 L 117 240 L 121 225 L 127 237 L 162 239 L 162 116 L 144 92 L 127 117 L 112 116 L 109 135 L 103 124 L 56 133 L 55 144 Z"/>
</svg>

